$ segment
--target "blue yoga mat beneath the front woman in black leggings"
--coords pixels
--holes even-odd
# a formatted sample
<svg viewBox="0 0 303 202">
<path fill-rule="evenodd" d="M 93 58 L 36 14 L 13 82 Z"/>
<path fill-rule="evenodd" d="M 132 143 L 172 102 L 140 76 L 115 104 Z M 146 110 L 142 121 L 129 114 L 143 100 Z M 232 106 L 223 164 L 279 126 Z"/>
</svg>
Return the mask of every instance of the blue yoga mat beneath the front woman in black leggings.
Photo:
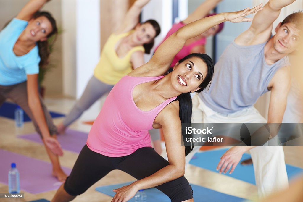
<svg viewBox="0 0 303 202">
<path fill-rule="evenodd" d="M 113 192 L 113 189 L 117 189 L 120 187 L 123 187 L 125 185 L 129 185 L 132 182 L 127 182 L 123 184 L 113 184 L 103 187 L 97 187 L 96 190 L 106 194 L 108 196 L 115 196 L 115 192 Z M 194 191 L 194 200 L 197 202 L 219 202 L 219 201 L 228 201 L 228 202 L 240 202 L 245 199 L 231 196 L 228 194 L 223 194 L 218 191 L 214 191 L 205 187 L 201 187 L 195 184 L 191 184 L 191 188 Z M 147 202 L 155 202 L 155 201 L 161 201 L 161 202 L 170 202 L 171 200 L 163 194 L 161 191 L 159 191 L 156 188 L 150 188 L 145 189 L 144 192 L 147 195 Z M 132 198 L 131 200 L 128 200 L 128 202 L 135 202 L 135 198 Z"/>
</svg>

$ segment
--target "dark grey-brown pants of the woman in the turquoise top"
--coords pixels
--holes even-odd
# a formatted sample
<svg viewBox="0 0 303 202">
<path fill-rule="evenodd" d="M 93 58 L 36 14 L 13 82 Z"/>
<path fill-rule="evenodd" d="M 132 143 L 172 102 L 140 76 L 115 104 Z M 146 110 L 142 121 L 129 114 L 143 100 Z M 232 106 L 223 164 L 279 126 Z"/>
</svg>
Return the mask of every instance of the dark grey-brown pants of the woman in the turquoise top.
<svg viewBox="0 0 303 202">
<path fill-rule="evenodd" d="M 18 104 L 25 111 L 25 113 L 29 116 L 29 118 L 32 119 L 37 133 L 40 134 L 40 136 L 41 136 L 41 132 L 38 127 L 38 124 L 36 123 L 35 118 L 32 114 L 32 111 L 28 106 L 27 85 L 26 84 L 27 84 L 27 82 L 25 81 L 20 84 L 15 84 L 15 85 L 10 85 L 10 86 L 0 85 L 0 106 L 3 104 L 3 102 L 6 99 L 11 99 L 13 102 Z M 51 135 L 56 134 L 57 128 L 54 125 L 54 123 L 52 121 L 52 117 L 49 114 L 47 108 L 45 107 L 45 104 L 44 104 L 42 98 L 40 97 L 40 94 L 39 94 L 39 99 L 40 99 L 41 107 L 42 107 L 42 110 L 43 110 L 43 113 L 45 116 L 45 120 L 46 120 L 46 123 L 48 126 L 49 133 Z"/>
</svg>

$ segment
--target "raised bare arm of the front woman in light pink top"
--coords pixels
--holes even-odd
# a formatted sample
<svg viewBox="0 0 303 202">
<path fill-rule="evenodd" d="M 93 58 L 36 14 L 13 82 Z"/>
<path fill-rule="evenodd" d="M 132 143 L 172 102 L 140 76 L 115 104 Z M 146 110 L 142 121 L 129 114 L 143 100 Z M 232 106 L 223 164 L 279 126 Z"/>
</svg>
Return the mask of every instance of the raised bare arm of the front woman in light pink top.
<svg viewBox="0 0 303 202">
<path fill-rule="evenodd" d="M 262 10 L 262 4 L 254 8 L 246 8 L 242 11 L 220 13 L 207 18 L 202 18 L 179 28 L 174 34 L 168 37 L 157 49 L 151 60 L 148 62 L 158 75 L 165 74 L 175 55 L 181 50 L 185 41 L 194 38 L 209 28 L 225 21 L 250 22 L 252 18 L 245 16 Z"/>
</svg>

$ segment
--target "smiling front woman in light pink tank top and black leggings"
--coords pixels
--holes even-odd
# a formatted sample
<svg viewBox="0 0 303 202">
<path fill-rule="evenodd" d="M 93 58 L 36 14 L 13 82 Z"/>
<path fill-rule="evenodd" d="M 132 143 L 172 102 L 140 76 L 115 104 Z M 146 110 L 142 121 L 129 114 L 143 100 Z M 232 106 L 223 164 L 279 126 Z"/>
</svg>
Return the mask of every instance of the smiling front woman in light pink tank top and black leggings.
<svg viewBox="0 0 303 202">
<path fill-rule="evenodd" d="M 70 176 L 52 202 L 73 200 L 115 169 L 138 180 L 114 189 L 112 202 L 126 202 L 138 190 L 151 187 L 173 202 L 194 201 L 183 176 L 185 155 L 193 145 L 181 146 L 185 137 L 181 123 L 191 122 L 190 93 L 201 92 L 210 84 L 213 62 L 206 54 L 193 53 L 179 60 L 171 73 L 167 70 L 186 40 L 221 22 L 251 21 L 245 16 L 261 9 L 259 5 L 221 13 L 185 25 L 160 45 L 150 61 L 123 77 L 106 98 Z M 152 127 L 163 129 L 169 162 L 150 147 L 147 131 Z"/>
</svg>

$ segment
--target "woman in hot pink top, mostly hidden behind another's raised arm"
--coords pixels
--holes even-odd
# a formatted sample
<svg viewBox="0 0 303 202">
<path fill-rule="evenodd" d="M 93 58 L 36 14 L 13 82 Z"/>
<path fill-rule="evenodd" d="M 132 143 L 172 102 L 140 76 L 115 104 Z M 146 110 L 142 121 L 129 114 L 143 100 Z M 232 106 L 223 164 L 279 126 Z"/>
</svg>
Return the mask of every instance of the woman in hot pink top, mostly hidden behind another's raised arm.
<svg viewBox="0 0 303 202">
<path fill-rule="evenodd" d="M 183 27 L 184 25 L 187 25 L 191 22 L 194 22 L 198 19 L 209 17 L 212 15 L 215 15 L 216 13 L 208 14 L 212 9 L 214 9 L 219 2 L 222 0 L 206 0 L 205 2 L 201 3 L 194 12 L 188 15 L 188 17 L 185 20 L 182 20 L 179 23 L 175 23 L 172 25 L 171 29 L 168 31 L 167 35 L 161 41 L 160 45 L 173 33 L 175 33 L 179 28 Z M 181 48 L 181 50 L 175 55 L 175 58 L 171 62 L 171 68 L 174 67 L 174 65 L 184 58 L 186 55 L 189 55 L 191 53 L 205 53 L 205 44 L 206 44 L 206 38 L 209 36 L 213 36 L 218 34 L 220 31 L 222 31 L 224 26 L 224 23 L 220 23 L 219 25 L 215 25 L 211 28 L 209 28 L 204 33 L 198 35 L 195 38 L 188 39 L 184 46 Z M 160 46 L 158 45 L 155 48 L 155 51 Z"/>
</svg>

